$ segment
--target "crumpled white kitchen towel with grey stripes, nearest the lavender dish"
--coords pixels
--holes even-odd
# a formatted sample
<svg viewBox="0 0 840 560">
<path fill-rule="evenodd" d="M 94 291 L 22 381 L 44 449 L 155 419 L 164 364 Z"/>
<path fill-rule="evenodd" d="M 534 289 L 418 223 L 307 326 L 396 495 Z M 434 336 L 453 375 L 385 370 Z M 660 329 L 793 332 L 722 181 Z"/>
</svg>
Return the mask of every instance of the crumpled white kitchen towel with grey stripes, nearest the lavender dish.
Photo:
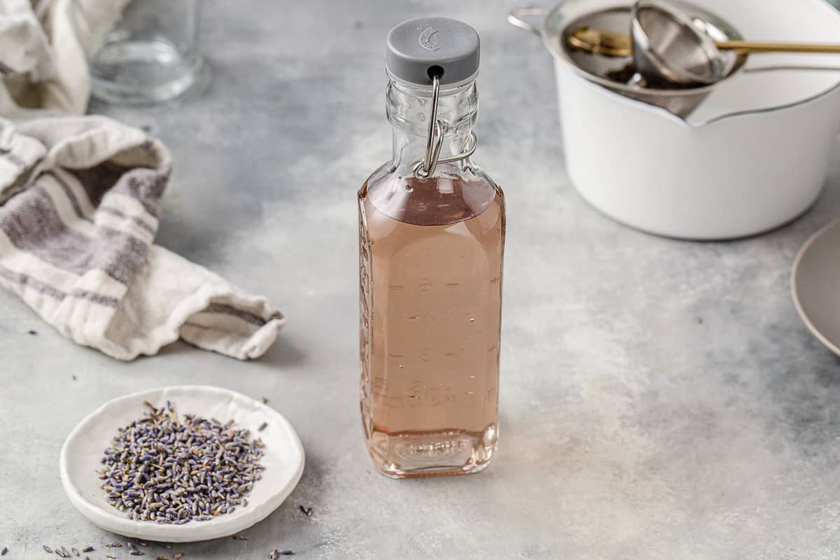
<svg viewBox="0 0 840 560">
<path fill-rule="evenodd" d="M 170 166 L 163 144 L 110 118 L 0 118 L 0 285 L 117 359 L 178 338 L 259 357 L 281 313 L 153 243 Z"/>
</svg>

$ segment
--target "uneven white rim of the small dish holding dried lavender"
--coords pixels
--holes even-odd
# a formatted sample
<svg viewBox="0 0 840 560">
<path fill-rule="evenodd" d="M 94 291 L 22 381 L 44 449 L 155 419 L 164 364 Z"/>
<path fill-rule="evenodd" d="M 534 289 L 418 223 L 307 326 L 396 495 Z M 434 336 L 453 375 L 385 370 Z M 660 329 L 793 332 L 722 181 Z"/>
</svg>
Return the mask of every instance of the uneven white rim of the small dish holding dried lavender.
<svg viewBox="0 0 840 560">
<path fill-rule="evenodd" d="M 240 506 L 234 513 L 224 514 L 210 521 L 192 521 L 184 525 L 157 524 L 152 521 L 132 521 L 123 511 L 119 511 L 113 508 L 113 506 L 108 505 L 105 501 L 104 493 L 102 493 L 102 504 L 96 504 L 89 497 L 82 495 L 80 486 L 76 484 L 75 478 L 80 472 L 78 465 L 86 461 L 89 462 L 90 457 L 89 454 L 83 454 L 76 459 L 75 465 L 71 465 L 73 450 L 74 448 L 78 449 L 80 446 L 84 447 L 86 445 L 85 438 L 91 437 L 92 430 L 96 428 L 96 422 L 101 420 L 102 416 L 118 410 L 118 407 L 125 407 L 125 409 L 129 409 L 130 407 L 131 410 L 136 408 L 137 411 L 136 415 L 131 417 L 139 418 L 144 413 L 144 400 L 150 400 L 150 402 L 154 403 L 160 402 L 161 399 L 166 399 L 167 397 L 173 401 L 177 410 L 178 395 L 184 395 L 185 393 L 195 398 L 204 397 L 212 399 L 218 405 L 221 405 L 224 400 L 227 400 L 228 406 L 232 406 L 232 411 L 228 419 L 233 418 L 236 421 L 234 427 L 249 428 L 252 437 L 256 437 L 256 427 L 251 427 L 248 424 L 240 424 L 241 419 L 237 416 L 238 413 L 244 415 L 248 411 L 252 413 L 258 411 L 260 418 L 265 418 L 264 421 L 268 422 L 271 428 L 259 434 L 265 442 L 265 457 L 263 461 L 265 463 L 270 454 L 272 457 L 282 457 L 281 462 L 283 464 L 278 465 L 282 471 L 279 473 L 281 479 L 274 481 L 274 484 L 270 486 L 266 484 L 266 473 L 268 473 L 270 468 L 266 466 L 264 478 L 255 483 L 254 489 L 248 495 L 249 504 L 247 507 Z M 185 412 L 203 416 L 202 411 L 187 410 Z M 98 439 L 99 436 L 104 437 L 102 450 L 108 447 L 108 442 L 116 434 L 118 427 L 120 426 L 114 426 L 113 432 L 108 434 L 93 434 L 94 439 Z M 92 443 L 87 443 L 87 447 L 90 445 Z M 64 486 L 67 497 L 83 516 L 87 517 L 95 525 L 102 527 L 102 529 L 113 531 L 118 535 L 150 541 L 197 542 L 234 535 L 269 516 L 272 511 L 276 510 L 286 500 L 286 497 L 291 494 L 291 491 L 301 479 L 304 453 L 300 438 L 297 437 L 297 433 L 291 427 L 291 424 L 279 412 L 270 408 L 270 406 L 265 406 L 263 403 L 247 395 L 242 395 L 241 393 L 221 387 L 210 385 L 172 385 L 119 396 L 116 399 L 109 400 L 97 408 L 97 410 L 91 412 L 67 436 L 64 445 L 61 447 L 59 465 L 61 484 Z M 76 466 L 75 471 L 71 466 Z M 73 472 L 76 473 L 75 476 Z M 84 472 L 83 468 L 81 472 Z M 97 474 L 91 472 L 90 475 L 96 481 L 98 487 L 100 481 Z"/>
</svg>

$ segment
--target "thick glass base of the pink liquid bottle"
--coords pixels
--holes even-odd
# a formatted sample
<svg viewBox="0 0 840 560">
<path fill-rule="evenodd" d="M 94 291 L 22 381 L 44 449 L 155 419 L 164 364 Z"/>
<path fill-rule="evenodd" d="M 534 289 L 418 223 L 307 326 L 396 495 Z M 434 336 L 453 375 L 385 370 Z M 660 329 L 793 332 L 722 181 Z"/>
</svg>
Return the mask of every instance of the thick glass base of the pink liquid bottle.
<svg viewBox="0 0 840 560">
<path fill-rule="evenodd" d="M 375 429 L 368 451 L 375 468 L 391 479 L 475 474 L 491 463 L 497 437 L 495 424 L 481 432 L 387 433 Z"/>
</svg>

